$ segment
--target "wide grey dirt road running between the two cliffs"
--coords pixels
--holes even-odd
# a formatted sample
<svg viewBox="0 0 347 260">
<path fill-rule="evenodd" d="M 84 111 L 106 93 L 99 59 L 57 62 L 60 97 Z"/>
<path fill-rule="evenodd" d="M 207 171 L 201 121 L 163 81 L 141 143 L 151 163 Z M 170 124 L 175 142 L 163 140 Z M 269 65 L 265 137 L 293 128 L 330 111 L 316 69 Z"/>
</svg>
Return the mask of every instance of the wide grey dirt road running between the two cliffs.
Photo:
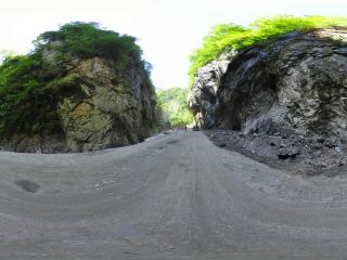
<svg viewBox="0 0 347 260">
<path fill-rule="evenodd" d="M 346 259 L 347 179 L 175 132 L 93 154 L 0 153 L 0 259 Z"/>
</svg>

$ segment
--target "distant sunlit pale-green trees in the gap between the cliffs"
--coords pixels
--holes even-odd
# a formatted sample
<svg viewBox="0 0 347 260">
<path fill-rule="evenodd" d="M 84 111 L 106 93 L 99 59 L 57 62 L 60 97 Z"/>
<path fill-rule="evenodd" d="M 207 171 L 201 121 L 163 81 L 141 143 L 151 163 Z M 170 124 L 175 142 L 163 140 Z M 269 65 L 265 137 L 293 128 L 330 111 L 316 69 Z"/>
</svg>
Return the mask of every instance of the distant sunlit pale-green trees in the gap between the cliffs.
<svg viewBox="0 0 347 260">
<path fill-rule="evenodd" d="M 171 127 L 182 127 L 193 122 L 193 116 L 187 107 L 188 88 L 157 90 L 159 108 L 167 116 Z"/>
</svg>

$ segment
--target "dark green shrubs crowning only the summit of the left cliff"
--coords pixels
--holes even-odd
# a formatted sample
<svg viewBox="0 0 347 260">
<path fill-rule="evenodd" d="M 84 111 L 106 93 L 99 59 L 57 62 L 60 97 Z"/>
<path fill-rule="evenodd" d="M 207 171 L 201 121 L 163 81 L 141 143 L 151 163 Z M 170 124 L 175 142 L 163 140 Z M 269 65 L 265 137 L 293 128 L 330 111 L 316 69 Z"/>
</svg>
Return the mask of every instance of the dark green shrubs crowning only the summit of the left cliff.
<svg viewBox="0 0 347 260">
<path fill-rule="evenodd" d="M 46 31 L 35 41 L 36 50 L 53 50 L 57 61 L 72 56 L 105 56 L 126 65 L 129 58 L 140 62 L 142 51 L 136 38 L 100 29 L 97 23 L 75 22 L 61 26 L 57 31 Z"/>
</svg>

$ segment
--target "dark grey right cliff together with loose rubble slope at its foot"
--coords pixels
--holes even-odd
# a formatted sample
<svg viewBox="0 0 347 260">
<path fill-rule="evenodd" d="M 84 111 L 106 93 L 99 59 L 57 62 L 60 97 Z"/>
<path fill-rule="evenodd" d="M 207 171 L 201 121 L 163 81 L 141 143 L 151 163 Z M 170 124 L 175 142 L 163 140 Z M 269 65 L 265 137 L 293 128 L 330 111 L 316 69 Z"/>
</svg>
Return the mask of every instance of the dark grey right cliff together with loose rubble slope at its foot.
<svg viewBox="0 0 347 260">
<path fill-rule="evenodd" d="M 346 28 L 287 34 L 224 64 L 198 69 L 188 99 L 200 128 L 226 129 L 213 141 L 307 174 L 345 170 Z"/>
</svg>

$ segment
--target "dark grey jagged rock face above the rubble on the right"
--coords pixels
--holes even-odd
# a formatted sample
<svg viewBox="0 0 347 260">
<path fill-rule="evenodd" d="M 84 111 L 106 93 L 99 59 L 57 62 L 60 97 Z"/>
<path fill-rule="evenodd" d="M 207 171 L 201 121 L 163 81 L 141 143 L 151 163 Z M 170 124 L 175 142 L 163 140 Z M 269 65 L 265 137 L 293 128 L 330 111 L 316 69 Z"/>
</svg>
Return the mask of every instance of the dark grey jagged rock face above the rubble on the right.
<svg viewBox="0 0 347 260">
<path fill-rule="evenodd" d="M 204 100 L 219 103 L 215 126 L 245 133 L 347 139 L 346 43 L 345 28 L 321 29 L 288 34 L 267 46 L 240 52 L 228 65 L 216 87 L 218 91 L 202 90 L 208 93 Z M 209 89 L 208 83 L 204 88 Z M 194 96 L 201 102 L 191 106 L 197 115 L 207 106 Z M 197 119 L 203 121 L 202 127 L 210 127 L 208 116 Z"/>
</svg>

